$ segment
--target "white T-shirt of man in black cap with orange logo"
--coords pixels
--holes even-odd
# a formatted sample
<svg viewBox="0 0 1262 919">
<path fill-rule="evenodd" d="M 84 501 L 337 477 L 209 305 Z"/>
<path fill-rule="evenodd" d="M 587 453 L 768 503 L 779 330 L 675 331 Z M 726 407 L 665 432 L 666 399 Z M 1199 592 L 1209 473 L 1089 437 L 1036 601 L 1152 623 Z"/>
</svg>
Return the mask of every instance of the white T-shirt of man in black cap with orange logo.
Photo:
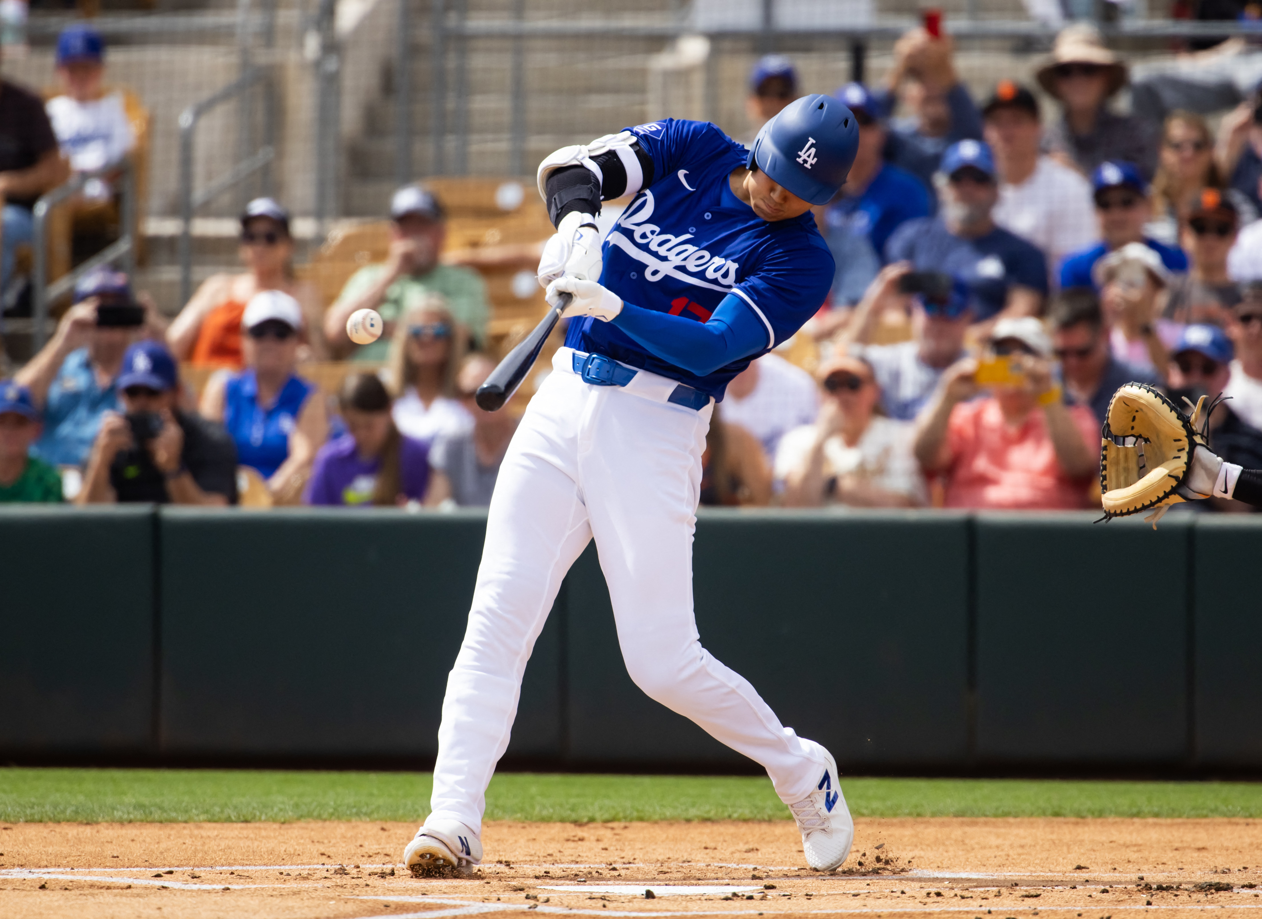
<svg viewBox="0 0 1262 919">
<path fill-rule="evenodd" d="M 1098 236 L 1090 184 L 1050 157 L 1039 157 L 1020 186 L 1000 186 L 993 216 L 1001 227 L 1039 246 L 1053 274 L 1066 255 Z"/>
</svg>

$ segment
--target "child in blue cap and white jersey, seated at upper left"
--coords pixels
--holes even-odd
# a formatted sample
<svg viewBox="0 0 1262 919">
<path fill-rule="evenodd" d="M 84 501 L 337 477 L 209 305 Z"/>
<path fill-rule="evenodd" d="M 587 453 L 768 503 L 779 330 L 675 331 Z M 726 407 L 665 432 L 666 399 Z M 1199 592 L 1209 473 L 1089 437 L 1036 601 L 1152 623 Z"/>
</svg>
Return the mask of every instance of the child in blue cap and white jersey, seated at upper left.
<svg viewBox="0 0 1262 919">
<path fill-rule="evenodd" d="M 48 100 L 48 117 L 71 168 L 92 172 L 116 165 L 136 145 L 122 93 L 106 93 L 105 42 L 91 25 L 76 24 L 57 37 L 57 78 L 62 93 Z M 82 191 L 87 201 L 107 201 L 110 183 L 91 179 Z"/>
</svg>

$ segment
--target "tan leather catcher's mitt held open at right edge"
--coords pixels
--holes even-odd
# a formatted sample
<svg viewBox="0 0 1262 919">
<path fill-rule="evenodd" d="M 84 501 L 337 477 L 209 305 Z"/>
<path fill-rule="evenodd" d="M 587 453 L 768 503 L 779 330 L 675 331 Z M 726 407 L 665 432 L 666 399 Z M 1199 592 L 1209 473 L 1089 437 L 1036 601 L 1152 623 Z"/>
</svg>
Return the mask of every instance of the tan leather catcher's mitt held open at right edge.
<svg viewBox="0 0 1262 919">
<path fill-rule="evenodd" d="M 1204 406 L 1201 396 L 1191 415 L 1185 415 L 1142 382 L 1128 382 L 1113 394 L 1100 429 L 1102 519 L 1152 510 L 1145 520 L 1156 529 L 1172 505 L 1206 497 L 1186 486 L 1193 453 L 1198 447 L 1208 449 Z"/>
</svg>

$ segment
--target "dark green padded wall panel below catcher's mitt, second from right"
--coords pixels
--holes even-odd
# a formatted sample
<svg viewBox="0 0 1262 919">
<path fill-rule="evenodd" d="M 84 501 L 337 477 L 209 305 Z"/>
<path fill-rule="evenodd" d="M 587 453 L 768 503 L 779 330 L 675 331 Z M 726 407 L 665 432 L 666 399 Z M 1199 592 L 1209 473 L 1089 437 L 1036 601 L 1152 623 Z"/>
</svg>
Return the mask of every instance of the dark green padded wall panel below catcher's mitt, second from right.
<svg viewBox="0 0 1262 919">
<path fill-rule="evenodd" d="M 1186 761 L 1190 518 L 976 516 L 982 761 Z"/>
</svg>

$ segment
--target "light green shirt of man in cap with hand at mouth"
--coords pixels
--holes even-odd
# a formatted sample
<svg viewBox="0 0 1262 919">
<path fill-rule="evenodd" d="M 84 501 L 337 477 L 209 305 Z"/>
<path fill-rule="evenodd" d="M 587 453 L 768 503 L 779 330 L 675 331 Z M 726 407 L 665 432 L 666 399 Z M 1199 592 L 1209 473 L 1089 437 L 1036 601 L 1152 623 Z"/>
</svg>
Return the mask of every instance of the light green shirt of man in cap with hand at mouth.
<svg viewBox="0 0 1262 919">
<path fill-rule="evenodd" d="M 342 295 L 337 298 L 337 304 L 358 302 L 363 298 L 365 293 L 371 292 L 382 283 L 384 278 L 387 276 L 387 271 L 390 271 L 387 263 L 365 265 L 346 282 L 346 287 L 342 288 Z M 486 342 L 486 321 L 491 312 L 486 304 L 486 285 L 482 283 L 482 278 L 477 271 L 467 268 L 434 265 L 429 273 L 420 276 L 411 274 L 400 275 L 386 288 L 385 295 L 374 307 L 386 322 L 386 333 L 371 345 L 361 345 L 351 355 L 351 359 L 356 361 L 385 361 L 390 351 L 390 336 L 394 323 L 408 311 L 408 307 L 428 293 L 443 295 L 452 318 L 468 329 L 477 347 L 481 348 Z M 334 304 L 334 309 L 337 309 L 337 304 Z M 346 327 L 345 321 L 342 322 L 342 327 Z"/>
</svg>

